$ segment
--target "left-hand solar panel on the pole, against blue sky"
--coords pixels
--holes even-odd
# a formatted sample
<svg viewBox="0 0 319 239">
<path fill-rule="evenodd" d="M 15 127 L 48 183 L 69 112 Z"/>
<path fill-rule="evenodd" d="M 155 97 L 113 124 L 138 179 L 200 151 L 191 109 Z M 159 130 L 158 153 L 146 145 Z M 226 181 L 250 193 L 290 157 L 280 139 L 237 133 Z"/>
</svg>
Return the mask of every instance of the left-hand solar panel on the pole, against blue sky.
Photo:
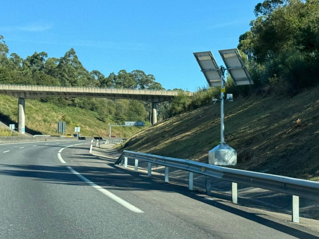
<svg viewBox="0 0 319 239">
<path fill-rule="evenodd" d="M 210 51 L 193 53 L 210 86 L 221 86 L 220 71 Z"/>
</svg>

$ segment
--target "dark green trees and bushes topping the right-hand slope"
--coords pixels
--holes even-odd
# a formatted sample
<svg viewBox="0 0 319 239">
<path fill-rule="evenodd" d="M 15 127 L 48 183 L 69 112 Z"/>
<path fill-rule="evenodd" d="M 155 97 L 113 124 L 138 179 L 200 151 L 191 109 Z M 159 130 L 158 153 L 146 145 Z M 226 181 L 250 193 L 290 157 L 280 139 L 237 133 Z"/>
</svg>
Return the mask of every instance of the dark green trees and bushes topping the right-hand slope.
<svg viewBox="0 0 319 239">
<path fill-rule="evenodd" d="M 319 1 L 265 0 L 254 9 L 250 31 L 239 37 L 238 49 L 253 85 L 234 86 L 228 75 L 226 93 L 293 96 L 319 83 Z M 194 98 L 183 92 L 167 107 L 169 116 L 196 109 L 219 98 L 219 88 L 199 89 Z"/>
</svg>

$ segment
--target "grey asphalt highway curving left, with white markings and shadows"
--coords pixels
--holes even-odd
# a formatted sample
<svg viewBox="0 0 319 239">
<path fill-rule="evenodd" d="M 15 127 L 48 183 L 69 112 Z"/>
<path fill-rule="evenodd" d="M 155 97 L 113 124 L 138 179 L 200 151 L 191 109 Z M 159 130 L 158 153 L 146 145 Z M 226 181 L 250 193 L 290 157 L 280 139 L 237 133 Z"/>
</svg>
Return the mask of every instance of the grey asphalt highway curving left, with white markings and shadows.
<svg viewBox="0 0 319 239">
<path fill-rule="evenodd" d="M 302 225 L 115 166 L 85 143 L 0 145 L 1 239 L 319 238 Z"/>
</svg>

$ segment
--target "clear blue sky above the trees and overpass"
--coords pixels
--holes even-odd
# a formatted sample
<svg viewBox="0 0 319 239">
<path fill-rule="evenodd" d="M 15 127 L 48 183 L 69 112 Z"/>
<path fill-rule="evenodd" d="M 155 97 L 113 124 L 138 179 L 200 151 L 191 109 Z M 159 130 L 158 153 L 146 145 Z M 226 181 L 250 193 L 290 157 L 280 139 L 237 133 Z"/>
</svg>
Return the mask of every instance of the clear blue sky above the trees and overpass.
<svg viewBox="0 0 319 239">
<path fill-rule="evenodd" d="M 164 88 L 194 91 L 206 81 L 193 52 L 234 48 L 260 1 L 4 1 L 0 35 L 10 53 L 60 57 L 71 47 L 89 71 L 153 74 Z"/>
</svg>

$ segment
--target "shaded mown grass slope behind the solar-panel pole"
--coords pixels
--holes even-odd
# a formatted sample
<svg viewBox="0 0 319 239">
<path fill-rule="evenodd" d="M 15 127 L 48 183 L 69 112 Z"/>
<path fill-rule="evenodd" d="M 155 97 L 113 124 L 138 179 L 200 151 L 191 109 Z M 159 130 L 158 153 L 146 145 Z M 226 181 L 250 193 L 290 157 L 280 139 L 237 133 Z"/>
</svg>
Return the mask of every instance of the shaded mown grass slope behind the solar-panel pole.
<svg viewBox="0 0 319 239">
<path fill-rule="evenodd" d="M 236 168 L 319 180 L 319 88 L 294 97 L 251 96 L 225 103 L 225 139 Z M 220 142 L 220 105 L 209 105 L 147 128 L 124 149 L 208 162 Z"/>
</svg>

